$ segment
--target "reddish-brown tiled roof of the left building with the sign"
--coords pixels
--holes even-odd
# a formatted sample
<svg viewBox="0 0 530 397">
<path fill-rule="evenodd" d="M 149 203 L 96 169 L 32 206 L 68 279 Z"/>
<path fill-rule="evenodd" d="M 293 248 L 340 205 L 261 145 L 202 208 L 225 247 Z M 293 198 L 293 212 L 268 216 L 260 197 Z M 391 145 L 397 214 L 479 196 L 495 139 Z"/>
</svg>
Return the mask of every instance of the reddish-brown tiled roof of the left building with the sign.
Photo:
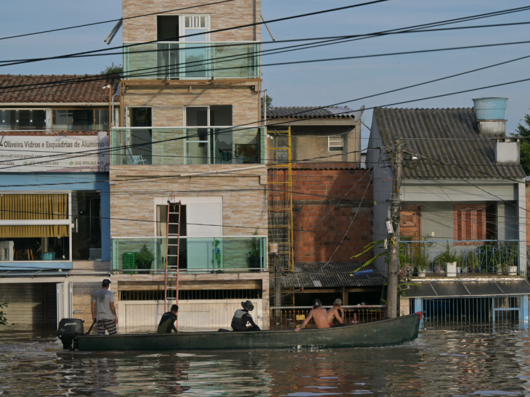
<svg viewBox="0 0 530 397">
<path fill-rule="evenodd" d="M 88 75 L 0 75 L 0 88 L 5 89 L 0 92 L 0 103 L 108 103 L 109 92 L 103 87 L 110 84 L 115 94 L 119 81 L 119 77 Z M 27 86 L 31 84 L 41 85 Z M 21 87 L 5 88 L 12 86 Z"/>
</svg>

